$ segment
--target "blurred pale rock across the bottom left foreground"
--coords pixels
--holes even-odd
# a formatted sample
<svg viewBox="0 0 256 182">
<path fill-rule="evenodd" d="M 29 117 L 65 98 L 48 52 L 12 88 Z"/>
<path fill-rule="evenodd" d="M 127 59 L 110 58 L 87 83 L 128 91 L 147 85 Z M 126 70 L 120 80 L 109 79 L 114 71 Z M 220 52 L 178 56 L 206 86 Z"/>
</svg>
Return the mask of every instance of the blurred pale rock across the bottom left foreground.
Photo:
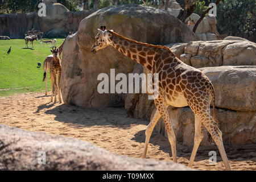
<svg viewBox="0 0 256 182">
<path fill-rule="evenodd" d="M 44 158 L 44 156 L 46 158 Z M 44 160 L 45 159 L 45 160 Z M 112 154 L 79 139 L 0 125 L 0 170 L 193 170 L 182 164 Z M 96 181 L 101 176 L 95 176 Z"/>
</svg>

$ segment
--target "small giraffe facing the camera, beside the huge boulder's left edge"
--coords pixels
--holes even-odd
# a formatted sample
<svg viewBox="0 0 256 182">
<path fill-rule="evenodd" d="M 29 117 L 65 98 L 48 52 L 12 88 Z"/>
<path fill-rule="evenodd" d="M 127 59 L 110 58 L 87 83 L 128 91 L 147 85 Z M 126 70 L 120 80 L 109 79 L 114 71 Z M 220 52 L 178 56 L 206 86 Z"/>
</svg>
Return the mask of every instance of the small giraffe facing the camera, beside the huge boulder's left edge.
<svg viewBox="0 0 256 182">
<path fill-rule="evenodd" d="M 52 96 L 51 96 L 51 102 L 53 99 L 53 84 L 54 84 L 54 103 L 56 103 L 56 95 L 59 94 L 59 101 L 61 103 L 61 98 L 60 98 L 60 77 L 61 77 L 61 59 L 59 55 L 59 49 L 53 49 L 51 50 L 53 59 L 51 61 L 49 71 L 51 75 L 51 84 L 52 84 Z M 58 75 L 58 80 L 57 80 L 57 75 Z"/>
</svg>

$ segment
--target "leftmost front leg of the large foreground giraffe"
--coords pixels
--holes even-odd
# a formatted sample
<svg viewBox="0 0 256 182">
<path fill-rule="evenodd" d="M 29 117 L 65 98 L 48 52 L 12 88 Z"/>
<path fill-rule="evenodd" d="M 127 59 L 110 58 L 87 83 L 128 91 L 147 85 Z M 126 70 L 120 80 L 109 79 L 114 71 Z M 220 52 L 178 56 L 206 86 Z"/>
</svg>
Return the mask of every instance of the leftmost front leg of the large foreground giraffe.
<svg viewBox="0 0 256 182">
<path fill-rule="evenodd" d="M 145 139 L 145 146 L 144 146 L 142 158 L 146 158 L 148 143 L 149 143 L 152 131 L 154 130 L 154 127 L 155 127 L 156 123 L 158 122 L 159 118 L 160 118 L 160 113 L 159 113 L 158 109 L 155 109 L 155 113 L 154 113 L 153 117 L 150 119 L 151 121 L 145 131 L 146 139 Z"/>
</svg>

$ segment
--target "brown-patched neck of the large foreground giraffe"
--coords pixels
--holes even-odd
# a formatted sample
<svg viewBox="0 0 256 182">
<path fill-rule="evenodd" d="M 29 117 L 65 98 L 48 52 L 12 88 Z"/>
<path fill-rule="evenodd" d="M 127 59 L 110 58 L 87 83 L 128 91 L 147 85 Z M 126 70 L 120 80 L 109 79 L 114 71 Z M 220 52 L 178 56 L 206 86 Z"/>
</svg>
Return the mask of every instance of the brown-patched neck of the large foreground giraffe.
<svg viewBox="0 0 256 182">
<path fill-rule="evenodd" d="M 112 34 L 109 38 L 110 45 L 130 59 L 137 61 L 148 69 L 152 69 L 152 62 L 155 55 L 155 47 L 143 46 L 135 42 L 129 42 L 119 36 Z"/>
</svg>

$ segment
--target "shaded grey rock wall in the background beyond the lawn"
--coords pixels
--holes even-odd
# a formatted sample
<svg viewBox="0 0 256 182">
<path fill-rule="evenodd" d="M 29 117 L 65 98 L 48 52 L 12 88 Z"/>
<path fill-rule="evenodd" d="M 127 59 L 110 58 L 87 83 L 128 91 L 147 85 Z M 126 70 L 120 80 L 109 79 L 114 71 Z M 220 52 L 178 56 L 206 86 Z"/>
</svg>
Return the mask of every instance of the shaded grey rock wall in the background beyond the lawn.
<svg viewBox="0 0 256 182">
<path fill-rule="evenodd" d="M 22 39 L 28 30 L 34 28 L 44 32 L 44 38 L 65 37 L 69 32 L 76 32 L 81 20 L 94 12 L 69 11 L 60 3 L 47 3 L 46 7 L 46 17 L 40 17 L 38 13 L 1 14 L 0 35 Z"/>
</svg>

